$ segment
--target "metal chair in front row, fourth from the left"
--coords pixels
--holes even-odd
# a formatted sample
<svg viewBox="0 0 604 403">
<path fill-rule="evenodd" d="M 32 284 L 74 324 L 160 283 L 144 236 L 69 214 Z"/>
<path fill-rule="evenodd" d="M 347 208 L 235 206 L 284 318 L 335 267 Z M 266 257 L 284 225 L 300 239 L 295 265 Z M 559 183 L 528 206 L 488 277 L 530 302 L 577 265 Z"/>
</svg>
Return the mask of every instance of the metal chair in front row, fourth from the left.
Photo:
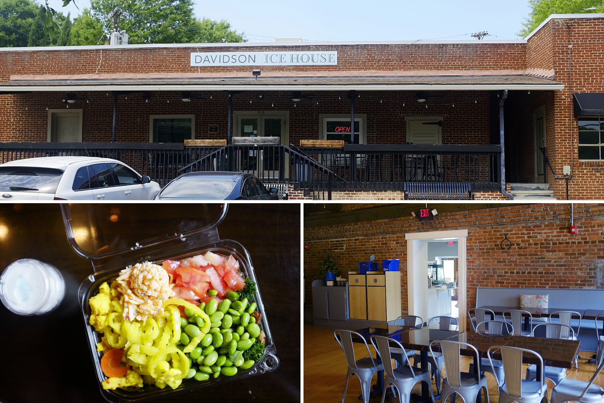
<svg viewBox="0 0 604 403">
<path fill-rule="evenodd" d="M 533 403 L 547 401 L 547 384 L 543 381 L 543 359 L 533 350 L 519 347 L 491 346 L 487 357 L 492 362 L 493 350 L 500 350 L 504 365 L 504 382 L 498 388 L 500 403 Z M 522 353 L 536 356 L 541 363 L 541 381 L 522 379 Z"/>
</svg>

